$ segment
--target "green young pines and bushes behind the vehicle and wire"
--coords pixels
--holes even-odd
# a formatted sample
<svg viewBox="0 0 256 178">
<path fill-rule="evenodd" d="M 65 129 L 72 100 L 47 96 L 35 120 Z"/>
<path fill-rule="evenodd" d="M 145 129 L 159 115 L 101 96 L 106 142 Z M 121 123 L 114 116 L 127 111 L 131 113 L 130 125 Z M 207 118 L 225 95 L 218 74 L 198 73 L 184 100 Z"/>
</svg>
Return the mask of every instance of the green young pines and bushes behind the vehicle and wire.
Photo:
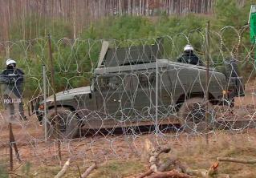
<svg viewBox="0 0 256 178">
<path fill-rule="evenodd" d="M 239 33 L 242 32 L 238 26 L 243 26 L 248 20 L 250 2 L 246 2 L 242 7 L 237 6 L 236 3 L 233 0 L 217 0 L 213 16 L 196 14 L 168 16 L 165 12 L 160 12 L 160 15 L 155 17 L 102 18 L 91 22 L 79 32 L 79 38 L 84 40 L 70 39 L 73 36 L 71 22 L 50 17 L 38 17 L 40 20 L 37 21 L 35 20 L 37 15 L 32 14 L 25 18 L 25 25 L 22 26 L 23 22 L 11 25 L 11 40 L 39 36 L 43 38 L 10 42 L 8 43 L 10 46 L 8 55 L 10 58 L 16 59 L 18 67 L 26 73 L 25 95 L 31 95 L 31 91 L 35 94 L 39 93 L 42 90 L 39 87 L 43 78 L 42 64 L 47 65 L 47 75 L 50 71 L 47 34 L 51 34 L 56 86 L 58 86 L 57 91 L 61 91 L 90 83 L 91 74 L 100 55 L 102 43 L 100 39 L 114 38 L 115 40 L 110 43 L 111 47 L 131 47 L 153 44 L 157 37 L 163 36 L 165 38 L 163 43 L 165 50 L 162 51 L 164 58 L 176 60 L 181 55 L 183 47 L 190 43 L 195 48 L 197 55 L 203 59 L 205 56 L 205 26 L 206 22 L 210 20 L 211 30 L 217 31 L 222 37 L 220 41 L 220 36 L 214 32 L 210 34 L 211 59 L 215 66 L 219 66 L 224 58 L 235 52 L 234 46 L 238 44 Z M 223 26 L 235 27 L 221 29 Z M 241 42 L 245 46 L 241 47 L 240 59 L 246 59 L 246 55 L 243 54 L 250 51 L 250 35 L 246 33 L 246 30 L 243 33 Z M 0 51 L 0 53 L 2 52 Z M 5 56 L 7 54 L 1 54 L 2 61 L 5 61 Z M 4 63 L 1 64 L 2 67 L 5 67 Z"/>
</svg>

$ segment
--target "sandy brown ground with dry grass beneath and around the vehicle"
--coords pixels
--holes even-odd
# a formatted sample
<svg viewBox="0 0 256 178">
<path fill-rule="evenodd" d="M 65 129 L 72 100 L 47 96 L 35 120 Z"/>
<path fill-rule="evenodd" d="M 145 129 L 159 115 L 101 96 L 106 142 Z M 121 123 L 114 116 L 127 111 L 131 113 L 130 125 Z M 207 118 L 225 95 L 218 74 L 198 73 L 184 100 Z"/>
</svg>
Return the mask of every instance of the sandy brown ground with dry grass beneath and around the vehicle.
<svg viewBox="0 0 256 178">
<path fill-rule="evenodd" d="M 235 99 L 234 113 L 225 113 L 230 119 L 255 119 L 256 95 L 254 83 L 246 87 L 246 97 Z M 8 167 L 9 131 L 5 121 L 6 114 L 1 112 L 0 165 Z M 153 133 L 134 133 L 113 136 L 109 133 L 94 136 L 82 136 L 75 140 L 60 141 L 62 160 L 59 159 L 58 141 L 44 141 L 43 127 L 39 126 L 35 116 L 29 121 L 13 125 L 14 137 L 22 163 L 14 159 L 15 173 L 29 177 L 53 177 L 60 165 L 71 158 L 71 168 L 65 177 L 79 177 L 93 161 L 100 164 L 91 177 L 135 176 L 148 169 L 144 159 L 144 140 L 152 140 L 161 147 L 170 147 L 167 156 L 177 157 L 191 168 L 209 168 L 218 156 L 238 158 L 256 158 L 256 130 L 249 128 L 211 131 L 209 144 L 205 135 L 191 135 L 181 131 L 168 132 L 156 136 Z M 27 164 L 30 163 L 30 164 Z M 29 172 L 26 172 L 29 168 Z M 255 165 L 221 163 L 219 171 L 232 177 L 256 177 Z M 1 171 L 0 171 L 1 173 Z"/>
</svg>

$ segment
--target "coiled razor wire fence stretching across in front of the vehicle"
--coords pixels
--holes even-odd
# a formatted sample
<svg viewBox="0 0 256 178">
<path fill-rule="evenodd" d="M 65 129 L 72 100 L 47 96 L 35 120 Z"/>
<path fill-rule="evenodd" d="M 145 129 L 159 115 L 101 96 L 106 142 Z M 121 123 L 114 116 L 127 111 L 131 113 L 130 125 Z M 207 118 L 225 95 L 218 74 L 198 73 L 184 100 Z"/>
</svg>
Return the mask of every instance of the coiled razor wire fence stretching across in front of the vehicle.
<svg viewBox="0 0 256 178">
<path fill-rule="evenodd" d="M 136 158 L 141 154 L 145 138 L 155 138 L 159 145 L 172 145 L 205 135 L 214 137 L 227 129 L 235 136 L 246 132 L 250 141 L 250 131 L 254 131 L 250 129 L 255 129 L 256 124 L 255 47 L 246 41 L 243 29 L 247 27 L 237 30 L 225 26 L 210 31 L 209 81 L 214 85 L 209 84 L 208 111 L 205 111 L 208 104 L 205 101 L 205 33 L 201 30 L 161 38 L 112 39 L 108 40 L 108 47 L 103 45 L 104 39 L 52 37 L 56 86 L 51 86 L 47 38 L 0 42 L 2 68 L 6 67 L 5 59 L 11 58 L 25 72 L 22 99 L 26 107 L 39 103 L 35 107 L 39 110 L 33 115 L 28 115 L 33 107 L 26 110 L 28 120 L 18 119 L 16 108 L 16 117 L 11 121 L 2 104 L 1 164 L 8 159 L 8 122 L 14 124 L 15 142 L 22 160 L 47 166 L 59 163 L 58 142 L 63 160 L 71 157 L 87 165 L 91 160 Z M 201 66 L 177 63 L 186 44 L 194 47 Z M 227 59 L 238 63 L 237 77 L 242 78 L 235 82 L 245 83 L 245 88 L 238 87 L 238 94 L 245 90 L 245 97 L 234 100 L 224 97 L 227 95 L 224 92 L 230 92 L 226 91 L 227 86 L 234 83 L 232 72 L 225 71 Z M 159 83 L 156 83 L 156 60 Z M 47 69 L 45 74 L 43 65 Z M 43 75 L 47 77 L 47 105 L 51 106 L 47 109 L 47 120 L 40 109 Z M 58 115 L 52 107 L 53 88 L 57 91 Z M 205 113 L 209 114 L 207 122 L 201 120 Z M 189 119 L 191 117 L 197 122 Z"/>
</svg>

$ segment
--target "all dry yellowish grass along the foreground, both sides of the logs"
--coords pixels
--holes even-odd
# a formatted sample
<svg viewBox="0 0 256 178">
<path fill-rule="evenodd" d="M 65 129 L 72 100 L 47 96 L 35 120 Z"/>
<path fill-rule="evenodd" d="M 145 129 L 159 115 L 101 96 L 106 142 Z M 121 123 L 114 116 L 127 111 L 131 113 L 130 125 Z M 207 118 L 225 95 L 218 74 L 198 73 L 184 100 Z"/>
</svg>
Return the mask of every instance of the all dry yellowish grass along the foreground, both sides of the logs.
<svg viewBox="0 0 256 178">
<path fill-rule="evenodd" d="M 256 132 L 251 130 L 248 133 L 241 133 L 232 135 L 230 131 L 219 131 L 209 136 L 209 144 L 205 143 L 204 136 L 194 136 L 189 140 L 179 140 L 179 144 L 173 144 L 172 151 L 169 154 L 162 156 L 163 159 L 168 157 L 176 157 L 190 168 L 194 169 L 207 169 L 217 161 L 217 157 L 234 157 L 243 159 L 256 158 L 256 142 L 254 136 Z M 144 136 L 142 136 L 144 137 Z M 173 140 L 169 140 L 173 142 Z M 142 144 L 143 141 L 141 141 Z M 166 142 L 166 140 L 165 140 Z M 125 151 L 124 151 L 125 152 Z M 83 165 L 83 163 L 76 163 L 75 160 L 71 162 L 71 167 L 68 168 L 67 174 L 64 177 L 79 177 L 79 171 L 76 164 Z M 91 172 L 90 178 L 120 178 L 132 177 L 145 172 L 148 169 L 148 163 L 143 162 L 140 157 L 137 159 L 123 160 L 108 160 L 104 163 L 98 163 L 99 168 Z M 80 167 L 80 172 L 84 172 L 87 167 Z M 19 170 L 20 175 L 22 168 Z M 60 170 L 60 166 L 40 166 L 30 168 L 30 174 L 27 177 L 53 177 Z M 238 177 L 256 177 L 255 164 L 236 164 L 224 163 L 219 165 L 219 172 L 230 174 L 233 178 Z"/>
</svg>

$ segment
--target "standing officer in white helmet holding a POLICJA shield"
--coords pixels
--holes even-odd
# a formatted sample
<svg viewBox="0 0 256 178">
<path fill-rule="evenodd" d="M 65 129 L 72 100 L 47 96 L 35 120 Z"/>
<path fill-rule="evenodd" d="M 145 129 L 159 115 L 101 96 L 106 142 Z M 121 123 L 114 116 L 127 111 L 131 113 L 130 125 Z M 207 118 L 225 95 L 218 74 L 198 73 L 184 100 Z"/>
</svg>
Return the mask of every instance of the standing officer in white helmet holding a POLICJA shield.
<svg viewBox="0 0 256 178">
<path fill-rule="evenodd" d="M 9 107 L 10 118 L 14 116 L 14 103 L 18 103 L 19 118 L 25 120 L 22 84 L 24 83 L 24 72 L 16 68 L 14 59 L 6 60 L 6 69 L 0 75 L 0 82 L 3 84 L 3 102 Z"/>
</svg>

